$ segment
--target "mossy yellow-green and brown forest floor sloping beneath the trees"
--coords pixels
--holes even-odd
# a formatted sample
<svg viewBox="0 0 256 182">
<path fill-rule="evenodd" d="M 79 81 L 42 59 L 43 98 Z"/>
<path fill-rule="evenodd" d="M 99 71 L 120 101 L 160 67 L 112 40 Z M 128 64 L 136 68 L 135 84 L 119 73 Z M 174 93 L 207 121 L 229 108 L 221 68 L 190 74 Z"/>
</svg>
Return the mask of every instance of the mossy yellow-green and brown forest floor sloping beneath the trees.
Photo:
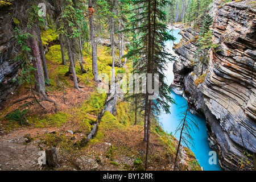
<svg viewBox="0 0 256 182">
<path fill-rule="evenodd" d="M 58 170 L 143 170 L 146 156 L 143 118 L 138 115 L 138 123 L 134 125 L 135 114 L 130 102 L 118 101 L 115 115 L 106 111 L 96 137 L 85 146 L 80 145 L 104 108 L 106 94 L 97 93 L 93 84 L 89 54 L 84 53 L 84 68 L 88 73 L 82 74 L 76 68 L 79 84 L 84 87 L 84 92 L 79 92 L 73 88 L 72 77 L 64 76 L 68 65 L 60 65 L 59 45 L 49 49 L 46 57 L 51 86 L 47 86 L 47 94 L 57 105 L 42 101 L 43 109 L 32 99 L 11 105 L 30 94 L 27 84 L 19 86 L 17 92 L 6 99 L 0 110 L 0 170 L 55 170 L 42 166 L 40 156 L 51 147 L 57 149 Z M 98 49 L 99 72 L 110 75 L 109 48 Z M 126 71 L 128 67 L 115 69 Z M 171 170 L 176 146 L 177 140 L 165 133 L 157 121 L 152 121 L 148 169 Z M 200 170 L 188 148 L 181 147 L 181 158 L 181 170 Z"/>
</svg>

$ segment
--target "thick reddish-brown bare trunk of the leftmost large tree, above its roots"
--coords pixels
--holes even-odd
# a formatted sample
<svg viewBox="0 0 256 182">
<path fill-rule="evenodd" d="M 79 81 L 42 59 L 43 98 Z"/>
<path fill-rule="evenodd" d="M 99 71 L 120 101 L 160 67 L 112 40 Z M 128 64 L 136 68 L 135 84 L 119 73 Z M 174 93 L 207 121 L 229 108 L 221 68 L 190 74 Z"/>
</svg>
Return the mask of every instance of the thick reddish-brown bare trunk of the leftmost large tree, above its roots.
<svg viewBox="0 0 256 182">
<path fill-rule="evenodd" d="M 38 41 L 36 40 L 36 32 L 34 28 L 31 29 L 31 35 L 34 37 L 31 38 L 31 48 L 32 48 L 32 55 L 34 59 L 32 60 L 33 67 L 35 69 L 35 92 L 37 93 L 45 93 L 46 92 L 46 84 L 44 82 L 44 73 L 43 73 L 43 66 L 42 60 L 40 57 L 40 51 L 38 47 Z"/>
</svg>

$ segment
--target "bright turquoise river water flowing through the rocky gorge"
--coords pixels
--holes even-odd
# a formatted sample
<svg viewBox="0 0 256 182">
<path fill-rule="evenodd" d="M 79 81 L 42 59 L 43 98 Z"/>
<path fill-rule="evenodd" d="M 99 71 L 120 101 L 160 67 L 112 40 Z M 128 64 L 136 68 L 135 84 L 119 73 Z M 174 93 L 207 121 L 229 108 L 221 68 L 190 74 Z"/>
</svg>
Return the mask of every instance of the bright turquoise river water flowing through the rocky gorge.
<svg viewBox="0 0 256 182">
<path fill-rule="evenodd" d="M 180 29 L 172 30 L 170 33 L 175 36 L 176 40 L 175 43 L 179 43 L 181 39 L 181 35 L 179 35 Z M 166 47 L 170 50 L 172 55 L 177 56 L 174 51 L 172 50 L 173 42 L 168 41 L 166 42 Z M 167 71 L 165 73 L 167 77 L 167 83 L 170 85 L 172 81 L 174 80 L 174 73 L 172 72 L 172 67 L 174 63 L 168 63 L 167 65 Z M 167 131 L 167 133 L 175 134 L 176 127 L 179 125 L 179 120 L 182 118 L 178 114 L 181 111 L 184 111 L 187 109 L 187 101 L 177 94 L 171 93 L 171 97 L 174 98 L 177 105 L 171 105 L 171 114 L 161 114 L 159 117 L 159 122 L 162 125 L 162 128 L 164 131 Z M 181 106 L 184 106 L 181 108 Z M 199 127 L 199 130 L 197 130 L 195 127 L 195 133 L 191 133 L 191 136 L 194 139 L 193 147 L 189 146 L 189 148 L 192 150 L 192 152 L 195 154 L 197 162 L 199 162 L 200 166 L 204 168 L 205 171 L 220 171 L 220 165 L 218 164 L 218 157 L 216 155 L 216 160 L 214 160 L 214 155 L 210 152 L 213 151 L 208 144 L 207 140 L 207 128 L 205 124 L 205 118 L 200 118 L 197 115 L 193 115 L 189 112 L 189 116 L 192 117 L 196 122 L 197 126 Z M 177 132 L 174 137 L 179 139 L 180 133 Z M 183 142 L 181 142 L 185 146 Z M 210 152 L 210 153 L 209 153 Z M 216 154 L 216 153 L 215 153 Z M 210 160 L 210 163 L 209 163 Z M 216 164 L 214 164 L 214 161 L 216 161 Z M 213 164 L 212 164 L 213 163 Z"/>
</svg>

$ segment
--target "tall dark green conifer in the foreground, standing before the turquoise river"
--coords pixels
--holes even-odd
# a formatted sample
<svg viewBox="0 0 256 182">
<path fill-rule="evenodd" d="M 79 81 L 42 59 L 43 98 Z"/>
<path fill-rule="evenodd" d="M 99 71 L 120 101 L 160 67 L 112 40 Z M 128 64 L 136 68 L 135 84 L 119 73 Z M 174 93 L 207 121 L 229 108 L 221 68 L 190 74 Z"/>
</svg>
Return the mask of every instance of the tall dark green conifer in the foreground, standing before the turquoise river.
<svg viewBox="0 0 256 182">
<path fill-rule="evenodd" d="M 158 115 L 160 111 L 164 110 L 169 113 L 170 103 L 174 102 L 170 97 L 169 86 L 164 81 L 165 66 L 168 60 L 172 59 L 171 54 L 167 53 L 164 48 L 166 40 L 174 40 L 174 37 L 168 34 L 165 21 L 166 14 L 163 7 L 166 6 L 168 1 L 165 0 L 148 0 L 148 1 L 131 1 L 134 5 L 139 5 L 142 13 L 139 19 L 133 17 L 134 29 L 138 30 L 139 38 L 134 43 L 134 48 L 127 53 L 126 57 L 137 56 L 133 63 L 133 73 L 147 73 L 152 77 L 158 74 L 159 80 L 148 79 L 150 75 L 146 74 L 146 93 L 132 94 L 131 97 L 141 97 L 144 107 L 144 140 L 147 142 L 146 147 L 146 162 L 145 166 L 148 167 L 148 148 L 150 139 L 150 122 L 151 117 Z M 137 9 L 136 9 L 137 10 Z M 141 21 L 141 25 L 137 27 L 137 22 Z M 133 29 L 133 28 L 131 28 Z M 150 86 L 155 84 L 155 81 L 160 83 L 159 95 L 155 97 L 150 92 Z"/>
</svg>

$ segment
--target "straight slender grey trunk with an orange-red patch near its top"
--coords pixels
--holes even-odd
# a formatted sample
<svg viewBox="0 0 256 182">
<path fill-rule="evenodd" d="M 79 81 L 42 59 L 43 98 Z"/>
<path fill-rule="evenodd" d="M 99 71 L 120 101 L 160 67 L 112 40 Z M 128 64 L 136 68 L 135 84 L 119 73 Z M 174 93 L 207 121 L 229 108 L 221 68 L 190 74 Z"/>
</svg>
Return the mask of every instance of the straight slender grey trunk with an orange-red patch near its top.
<svg viewBox="0 0 256 182">
<path fill-rule="evenodd" d="M 88 8 L 92 8 L 92 0 L 88 0 Z M 90 40 L 92 42 L 92 68 L 94 81 L 98 82 L 98 63 L 97 63 L 97 49 L 94 35 L 94 24 L 93 24 L 93 13 L 89 15 L 89 24 L 90 24 Z"/>
</svg>

